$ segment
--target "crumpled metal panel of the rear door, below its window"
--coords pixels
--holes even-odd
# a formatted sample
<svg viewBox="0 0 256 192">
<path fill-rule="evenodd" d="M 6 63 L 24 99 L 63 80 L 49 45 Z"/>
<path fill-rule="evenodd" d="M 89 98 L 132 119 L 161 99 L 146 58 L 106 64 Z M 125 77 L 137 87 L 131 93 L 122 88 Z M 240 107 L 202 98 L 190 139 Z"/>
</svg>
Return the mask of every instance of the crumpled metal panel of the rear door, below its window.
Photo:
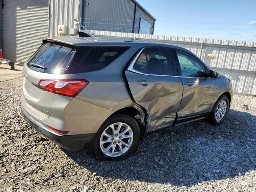
<svg viewBox="0 0 256 192">
<path fill-rule="evenodd" d="M 172 126 L 182 99 L 182 82 L 178 76 L 155 76 L 126 70 L 132 96 L 148 114 L 148 132 Z M 142 85 L 137 82 L 147 81 Z"/>
</svg>

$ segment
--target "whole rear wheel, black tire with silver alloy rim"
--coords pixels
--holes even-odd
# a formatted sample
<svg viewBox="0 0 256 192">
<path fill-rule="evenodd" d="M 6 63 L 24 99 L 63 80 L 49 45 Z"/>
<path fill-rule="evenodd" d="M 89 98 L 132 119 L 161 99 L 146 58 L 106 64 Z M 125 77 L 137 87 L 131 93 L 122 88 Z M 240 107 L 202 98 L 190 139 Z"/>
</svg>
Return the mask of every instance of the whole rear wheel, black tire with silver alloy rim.
<svg viewBox="0 0 256 192">
<path fill-rule="evenodd" d="M 100 126 L 93 141 L 93 152 L 96 159 L 123 160 L 129 158 L 138 147 L 140 134 L 140 126 L 135 118 L 127 114 L 110 116 Z"/>
</svg>

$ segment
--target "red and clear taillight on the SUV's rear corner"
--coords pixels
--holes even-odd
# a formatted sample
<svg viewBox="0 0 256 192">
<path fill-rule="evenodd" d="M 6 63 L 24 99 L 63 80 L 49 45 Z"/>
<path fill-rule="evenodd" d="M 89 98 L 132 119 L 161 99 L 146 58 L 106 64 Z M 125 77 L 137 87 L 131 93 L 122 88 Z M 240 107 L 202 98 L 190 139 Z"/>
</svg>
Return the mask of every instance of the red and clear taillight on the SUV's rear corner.
<svg viewBox="0 0 256 192">
<path fill-rule="evenodd" d="M 75 97 L 89 84 L 84 79 L 41 79 L 38 86 L 48 92 Z"/>
</svg>

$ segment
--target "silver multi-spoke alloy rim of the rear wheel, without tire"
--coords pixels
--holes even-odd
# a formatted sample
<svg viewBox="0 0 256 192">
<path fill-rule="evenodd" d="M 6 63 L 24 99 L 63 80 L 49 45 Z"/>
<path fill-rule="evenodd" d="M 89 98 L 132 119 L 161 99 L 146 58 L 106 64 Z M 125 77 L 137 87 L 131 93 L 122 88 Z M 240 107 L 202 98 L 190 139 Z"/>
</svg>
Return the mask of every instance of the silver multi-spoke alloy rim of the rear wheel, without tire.
<svg viewBox="0 0 256 192">
<path fill-rule="evenodd" d="M 128 124 L 116 122 L 104 129 L 100 136 L 100 149 L 109 157 L 126 153 L 132 145 L 133 132 Z"/>
</svg>

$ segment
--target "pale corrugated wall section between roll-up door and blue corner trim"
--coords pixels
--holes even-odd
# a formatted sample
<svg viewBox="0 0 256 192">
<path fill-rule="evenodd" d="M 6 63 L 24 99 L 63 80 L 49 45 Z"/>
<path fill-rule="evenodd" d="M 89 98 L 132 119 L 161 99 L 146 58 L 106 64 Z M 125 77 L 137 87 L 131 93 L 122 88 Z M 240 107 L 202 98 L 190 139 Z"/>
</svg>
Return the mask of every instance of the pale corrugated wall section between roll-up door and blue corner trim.
<svg viewBox="0 0 256 192">
<path fill-rule="evenodd" d="M 49 0 L 49 36 L 57 36 L 58 25 L 67 26 L 67 34 L 69 28 L 76 28 L 74 19 L 78 16 L 79 0 Z M 78 16 L 78 19 L 80 16 Z"/>
</svg>

